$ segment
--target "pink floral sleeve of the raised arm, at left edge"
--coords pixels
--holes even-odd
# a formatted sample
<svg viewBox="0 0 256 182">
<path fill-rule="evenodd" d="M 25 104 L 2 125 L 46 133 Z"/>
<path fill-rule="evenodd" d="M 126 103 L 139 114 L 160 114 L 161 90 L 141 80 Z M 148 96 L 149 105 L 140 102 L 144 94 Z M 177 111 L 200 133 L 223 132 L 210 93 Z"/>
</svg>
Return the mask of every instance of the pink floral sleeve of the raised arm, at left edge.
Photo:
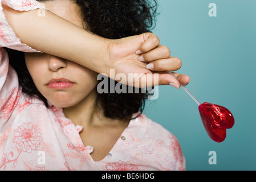
<svg viewBox="0 0 256 182">
<path fill-rule="evenodd" d="M 2 4 L 19 11 L 45 9 L 35 0 L 0 0 L 0 129 L 10 118 L 21 97 L 17 73 L 9 65 L 8 53 L 4 47 L 23 52 L 40 52 L 22 44 L 17 38 L 5 18 Z"/>
</svg>

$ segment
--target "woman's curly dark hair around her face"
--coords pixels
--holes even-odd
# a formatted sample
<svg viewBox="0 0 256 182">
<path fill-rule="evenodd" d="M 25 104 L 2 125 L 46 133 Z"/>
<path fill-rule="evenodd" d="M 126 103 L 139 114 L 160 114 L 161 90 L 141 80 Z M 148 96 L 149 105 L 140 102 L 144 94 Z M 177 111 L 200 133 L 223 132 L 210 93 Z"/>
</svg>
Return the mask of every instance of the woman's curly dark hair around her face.
<svg viewBox="0 0 256 182">
<path fill-rule="evenodd" d="M 40 2 L 44 1 L 54 0 L 40 0 Z M 83 22 L 86 22 L 90 31 L 104 38 L 119 39 L 139 35 L 144 32 L 151 32 L 152 28 L 155 27 L 157 15 L 157 2 L 155 0 L 70 1 L 74 1 L 81 7 Z M 7 51 L 11 66 L 17 71 L 22 92 L 29 96 L 38 97 L 48 107 L 46 98 L 36 89 L 27 70 L 24 52 L 13 49 L 7 49 Z M 110 82 L 110 78 L 108 79 Z M 97 93 L 95 104 L 104 110 L 104 116 L 107 118 L 131 119 L 133 113 L 138 111 L 142 113 L 147 98 L 148 93 L 141 92 L 141 89 L 139 93 Z"/>
</svg>

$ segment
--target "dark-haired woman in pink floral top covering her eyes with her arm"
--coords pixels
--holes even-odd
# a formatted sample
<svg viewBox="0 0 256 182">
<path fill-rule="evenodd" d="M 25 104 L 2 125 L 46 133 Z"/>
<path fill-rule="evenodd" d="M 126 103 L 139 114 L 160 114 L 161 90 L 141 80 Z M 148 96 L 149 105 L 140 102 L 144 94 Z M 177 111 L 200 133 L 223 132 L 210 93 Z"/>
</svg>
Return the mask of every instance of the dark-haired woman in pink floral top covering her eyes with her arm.
<svg viewBox="0 0 256 182">
<path fill-rule="evenodd" d="M 159 85 L 188 84 L 186 75 L 175 80 L 165 73 L 179 69 L 180 60 L 155 35 L 142 34 L 153 7 L 147 1 L 40 2 L 49 10 L 43 17 L 36 1 L 2 1 L 1 28 L 10 34 L 3 34 L 1 47 L 21 52 L 8 51 L 17 78 L 1 48 L 0 169 L 185 169 L 177 139 L 141 114 L 145 94 L 96 89 L 97 75 L 110 77 L 111 68 L 126 76 L 159 73 Z"/>
</svg>

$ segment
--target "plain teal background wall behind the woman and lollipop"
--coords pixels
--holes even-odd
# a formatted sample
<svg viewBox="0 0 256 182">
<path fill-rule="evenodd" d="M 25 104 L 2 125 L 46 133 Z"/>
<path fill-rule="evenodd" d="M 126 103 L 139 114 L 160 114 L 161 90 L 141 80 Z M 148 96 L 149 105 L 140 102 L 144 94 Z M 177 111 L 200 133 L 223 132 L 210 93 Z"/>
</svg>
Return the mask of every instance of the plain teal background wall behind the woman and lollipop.
<svg viewBox="0 0 256 182">
<path fill-rule="evenodd" d="M 210 3 L 217 17 L 208 15 Z M 235 118 L 224 142 L 216 143 L 185 90 L 159 86 L 159 98 L 148 100 L 144 113 L 176 136 L 187 170 L 256 170 L 255 9 L 255 0 L 159 0 L 153 32 L 181 59 L 177 72 L 190 76 L 187 88 Z M 208 163 L 209 151 L 216 151 L 216 165 Z"/>
</svg>

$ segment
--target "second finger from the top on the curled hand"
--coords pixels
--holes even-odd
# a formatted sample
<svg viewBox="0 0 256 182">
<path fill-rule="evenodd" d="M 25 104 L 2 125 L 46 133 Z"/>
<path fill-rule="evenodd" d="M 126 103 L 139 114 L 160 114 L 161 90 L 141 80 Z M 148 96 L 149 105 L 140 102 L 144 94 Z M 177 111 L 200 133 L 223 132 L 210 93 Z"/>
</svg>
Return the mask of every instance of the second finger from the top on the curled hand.
<svg viewBox="0 0 256 182">
<path fill-rule="evenodd" d="M 142 54 L 139 57 L 139 61 L 146 61 L 146 62 L 151 62 L 155 61 L 158 59 L 166 59 L 170 57 L 170 50 L 166 46 L 158 46 L 155 49 L 152 49 L 151 51 Z"/>
</svg>

